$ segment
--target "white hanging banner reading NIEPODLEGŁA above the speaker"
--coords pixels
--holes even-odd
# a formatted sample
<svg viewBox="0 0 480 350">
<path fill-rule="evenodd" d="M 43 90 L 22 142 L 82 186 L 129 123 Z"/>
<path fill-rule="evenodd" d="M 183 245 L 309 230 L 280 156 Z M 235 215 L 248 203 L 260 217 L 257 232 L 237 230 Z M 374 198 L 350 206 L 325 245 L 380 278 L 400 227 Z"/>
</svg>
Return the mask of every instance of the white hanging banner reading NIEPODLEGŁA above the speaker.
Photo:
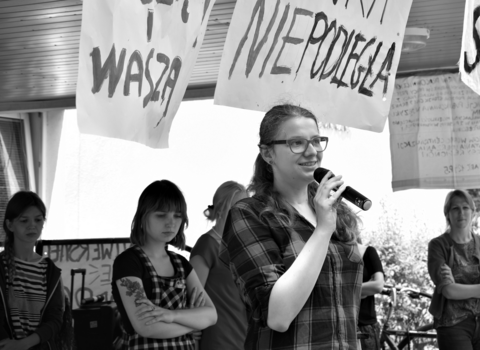
<svg viewBox="0 0 480 350">
<path fill-rule="evenodd" d="M 406 1 L 238 1 L 215 103 L 290 102 L 325 123 L 380 132 L 390 108 Z"/>
</svg>

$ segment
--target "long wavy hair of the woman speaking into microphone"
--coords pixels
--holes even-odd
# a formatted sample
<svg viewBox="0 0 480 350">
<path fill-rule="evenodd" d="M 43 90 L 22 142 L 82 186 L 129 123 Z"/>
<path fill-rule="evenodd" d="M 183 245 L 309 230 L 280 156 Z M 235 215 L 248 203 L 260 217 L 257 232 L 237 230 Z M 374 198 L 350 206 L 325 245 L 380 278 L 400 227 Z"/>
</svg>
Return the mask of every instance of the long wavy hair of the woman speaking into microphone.
<svg viewBox="0 0 480 350">
<path fill-rule="evenodd" d="M 295 117 L 312 119 L 318 128 L 317 118 L 309 110 L 291 104 L 275 106 L 265 114 L 260 124 L 260 150 L 271 148 L 267 145 L 275 140 L 283 123 Z M 318 183 L 316 181 L 312 181 L 308 185 L 308 203 L 313 210 L 315 210 L 313 198 L 317 188 Z M 255 193 L 266 203 L 265 208 L 260 212 L 260 219 L 263 220 L 267 213 L 272 213 L 279 218 L 283 225 L 292 227 L 295 220 L 295 211 L 274 189 L 272 166 L 263 159 L 260 152 L 255 160 L 253 177 L 248 186 L 248 191 Z M 337 209 L 337 230 L 333 234 L 333 238 L 342 242 L 354 241 L 358 234 L 358 220 L 358 216 L 348 205 L 340 202 Z"/>
</svg>

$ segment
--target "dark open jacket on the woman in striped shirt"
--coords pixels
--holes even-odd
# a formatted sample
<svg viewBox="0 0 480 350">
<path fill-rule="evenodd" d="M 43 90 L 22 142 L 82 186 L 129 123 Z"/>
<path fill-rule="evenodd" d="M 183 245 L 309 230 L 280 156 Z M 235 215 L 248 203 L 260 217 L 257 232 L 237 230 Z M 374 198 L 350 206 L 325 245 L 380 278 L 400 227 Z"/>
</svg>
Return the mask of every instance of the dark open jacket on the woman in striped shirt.
<svg viewBox="0 0 480 350">
<path fill-rule="evenodd" d="M 8 293 L 5 280 L 5 252 L 0 253 L 0 340 L 13 338 L 12 319 L 8 308 Z M 52 260 L 45 258 L 48 263 L 47 268 L 47 300 L 42 309 L 40 324 L 35 333 L 40 337 L 42 348 L 56 350 L 54 336 L 57 335 L 62 327 L 64 312 L 63 284 L 61 281 L 61 270 L 55 266 Z"/>
</svg>

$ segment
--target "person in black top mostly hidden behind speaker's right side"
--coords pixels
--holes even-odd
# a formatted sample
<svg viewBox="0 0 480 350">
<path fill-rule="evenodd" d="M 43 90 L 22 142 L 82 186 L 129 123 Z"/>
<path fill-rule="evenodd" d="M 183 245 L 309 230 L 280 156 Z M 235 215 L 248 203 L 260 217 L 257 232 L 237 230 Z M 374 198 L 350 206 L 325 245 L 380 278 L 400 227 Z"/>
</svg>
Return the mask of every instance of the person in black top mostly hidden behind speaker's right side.
<svg viewBox="0 0 480 350">
<path fill-rule="evenodd" d="M 360 242 L 360 239 L 358 239 Z M 380 325 L 375 312 L 375 294 L 381 293 L 385 283 L 383 266 L 377 250 L 371 246 L 358 245 L 363 258 L 362 302 L 358 316 L 358 329 L 367 334 L 360 340 L 362 350 L 380 350 Z"/>
</svg>

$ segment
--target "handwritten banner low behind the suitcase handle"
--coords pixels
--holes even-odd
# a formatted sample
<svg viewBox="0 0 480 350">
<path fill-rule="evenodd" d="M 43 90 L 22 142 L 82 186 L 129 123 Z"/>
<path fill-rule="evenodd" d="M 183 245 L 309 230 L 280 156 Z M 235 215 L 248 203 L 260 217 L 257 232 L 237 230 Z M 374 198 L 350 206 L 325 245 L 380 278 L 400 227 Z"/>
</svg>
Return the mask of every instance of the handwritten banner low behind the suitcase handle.
<svg viewBox="0 0 480 350">
<path fill-rule="evenodd" d="M 118 254 L 130 247 L 130 243 L 58 244 L 46 245 L 43 251 L 62 269 L 65 292 L 70 296 L 72 269 L 86 269 L 85 298 L 103 295 L 112 299 L 112 266 Z M 73 308 L 81 301 L 82 277 L 77 274 L 74 280 Z"/>
</svg>

